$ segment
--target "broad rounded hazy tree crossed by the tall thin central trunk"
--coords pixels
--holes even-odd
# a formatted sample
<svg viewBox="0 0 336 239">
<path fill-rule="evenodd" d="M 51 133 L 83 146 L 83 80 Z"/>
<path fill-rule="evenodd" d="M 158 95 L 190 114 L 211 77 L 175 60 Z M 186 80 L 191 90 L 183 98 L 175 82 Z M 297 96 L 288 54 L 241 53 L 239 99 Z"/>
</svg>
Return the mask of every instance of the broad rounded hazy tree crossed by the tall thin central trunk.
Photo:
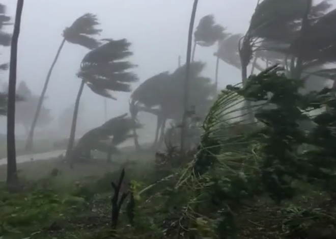
<svg viewBox="0 0 336 239">
<path fill-rule="evenodd" d="M 189 103 L 194 106 L 194 112 L 192 112 L 194 116 L 200 119 L 206 115 L 216 92 L 211 79 L 202 76 L 204 67 L 205 64 L 201 62 L 190 64 Z M 185 65 L 177 68 L 173 73 L 161 72 L 147 79 L 131 95 L 130 113 L 133 119 L 136 119 L 138 112 L 147 112 L 157 116 L 152 148 L 160 146 L 167 120 L 181 123 L 184 113 L 181 102 L 184 97 L 185 72 Z M 141 149 L 137 140 L 135 140 L 135 146 Z"/>
</svg>

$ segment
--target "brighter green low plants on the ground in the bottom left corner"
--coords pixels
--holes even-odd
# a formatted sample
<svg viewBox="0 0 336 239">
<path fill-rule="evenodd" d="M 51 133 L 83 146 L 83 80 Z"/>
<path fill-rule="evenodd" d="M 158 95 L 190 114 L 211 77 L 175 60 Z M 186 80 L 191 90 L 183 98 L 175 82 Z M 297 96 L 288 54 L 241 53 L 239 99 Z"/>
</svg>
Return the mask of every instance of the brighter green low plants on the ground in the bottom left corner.
<svg viewBox="0 0 336 239">
<path fill-rule="evenodd" d="M 83 198 L 61 195 L 44 179 L 12 194 L 2 189 L 0 235 L 33 232 L 49 227 L 55 220 L 66 219 L 65 212 L 78 213 L 86 202 Z"/>
</svg>

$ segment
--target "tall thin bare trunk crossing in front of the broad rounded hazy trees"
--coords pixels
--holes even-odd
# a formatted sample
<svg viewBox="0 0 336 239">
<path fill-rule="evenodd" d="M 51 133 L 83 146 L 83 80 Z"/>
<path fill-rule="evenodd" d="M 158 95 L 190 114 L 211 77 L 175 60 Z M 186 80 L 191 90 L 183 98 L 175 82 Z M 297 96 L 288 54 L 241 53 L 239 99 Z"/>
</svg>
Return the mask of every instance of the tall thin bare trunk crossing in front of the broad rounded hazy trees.
<svg viewBox="0 0 336 239">
<path fill-rule="evenodd" d="M 181 128 L 181 152 L 184 152 L 184 144 L 185 138 L 188 134 L 186 122 L 188 116 L 188 108 L 189 108 L 189 76 L 190 76 L 190 62 L 191 62 L 191 45 L 192 45 L 192 33 L 193 33 L 193 25 L 195 22 L 195 16 L 197 11 L 198 0 L 193 1 L 190 23 L 189 23 L 189 32 L 188 32 L 188 45 L 187 45 L 187 60 L 185 63 L 185 80 L 184 80 L 184 94 L 183 94 L 183 118 L 182 118 L 182 128 Z M 194 45 L 194 49 L 196 47 L 196 43 Z M 194 55 L 194 50 L 193 50 Z"/>
</svg>

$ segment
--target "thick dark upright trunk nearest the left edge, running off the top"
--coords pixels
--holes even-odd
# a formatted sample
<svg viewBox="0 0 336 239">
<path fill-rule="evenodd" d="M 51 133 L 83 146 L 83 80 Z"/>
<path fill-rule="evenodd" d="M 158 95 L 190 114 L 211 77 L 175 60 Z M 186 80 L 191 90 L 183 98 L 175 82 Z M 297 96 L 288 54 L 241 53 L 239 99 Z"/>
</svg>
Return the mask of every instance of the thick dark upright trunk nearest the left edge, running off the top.
<svg viewBox="0 0 336 239">
<path fill-rule="evenodd" d="M 11 60 L 9 66 L 8 84 L 8 115 L 7 115 L 7 185 L 15 187 L 18 183 L 16 168 L 15 149 L 15 100 L 16 100 L 16 67 L 17 67 L 17 46 L 20 35 L 21 16 L 23 0 L 18 0 L 16 5 L 14 32 L 11 45 Z"/>
</svg>

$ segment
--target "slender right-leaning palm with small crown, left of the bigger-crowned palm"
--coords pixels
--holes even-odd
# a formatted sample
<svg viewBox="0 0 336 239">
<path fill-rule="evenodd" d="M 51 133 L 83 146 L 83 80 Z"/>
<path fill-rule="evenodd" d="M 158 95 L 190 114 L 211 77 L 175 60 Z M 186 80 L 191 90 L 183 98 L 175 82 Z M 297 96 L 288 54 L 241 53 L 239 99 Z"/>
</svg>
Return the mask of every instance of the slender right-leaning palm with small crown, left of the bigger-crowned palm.
<svg viewBox="0 0 336 239">
<path fill-rule="evenodd" d="M 36 127 L 36 123 L 37 123 L 37 119 L 39 117 L 40 111 L 41 111 L 41 107 L 42 107 L 42 103 L 43 103 L 43 99 L 45 96 L 45 93 L 47 91 L 47 87 L 49 84 L 49 80 L 50 80 L 50 76 L 53 70 L 53 67 L 55 66 L 60 53 L 63 49 L 63 46 L 65 44 L 65 42 L 69 42 L 72 44 L 76 44 L 76 45 L 81 45 L 83 47 L 86 47 L 88 49 L 95 49 L 99 46 L 99 41 L 97 41 L 94 36 L 97 36 L 100 34 L 101 30 L 97 29 L 97 26 L 99 25 L 99 22 L 97 20 L 96 15 L 93 15 L 91 13 L 87 13 L 82 15 L 81 17 L 77 18 L 71 26 L 69 26 L 68 28 L 66 28 L 63 31 L 63 40 L 61 42 L 61 45 L 57 51 L 57 54 L 50 66 L 50 69 L 48 71 L 47 77 L 45 79 L 44 82 L 44 86 L 42 89 L 42 93 L 37 105 L 37 109 L 36 109 L 36 113 L 35 113 L 35 117 L 29 132 L 29 136 L 26 142 L 26 146 L 25 149 L 26 150 L 31 150 L 33 148 L 33 138 L 34 138 L 34 130 Z"/>
</svg>

